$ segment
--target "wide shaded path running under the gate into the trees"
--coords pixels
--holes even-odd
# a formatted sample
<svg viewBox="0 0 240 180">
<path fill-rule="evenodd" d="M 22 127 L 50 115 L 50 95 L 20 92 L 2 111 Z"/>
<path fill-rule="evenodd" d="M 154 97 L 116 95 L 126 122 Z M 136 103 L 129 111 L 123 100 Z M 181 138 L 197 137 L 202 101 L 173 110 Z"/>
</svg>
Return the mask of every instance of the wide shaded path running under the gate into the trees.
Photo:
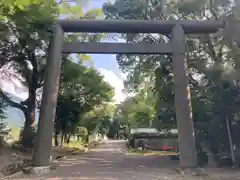
<svg viewBox="0 0 240 180">
<path fill-rule="evenodd" d="M 84 156 L 68 157 L 52 173 L 41 177 L 19 177 L 14 179 L 31 180 L 182 180 L 176 173 L 177 162 L 167 157 L 126 156 L 122 153 L 125 141 L 106 141 Z M 237 177 L 237 176 L 236 176 Z M 238 175 L 240 177 L 240 175 Z M 227 176 L 226 179 L 235 178 Z M 209 179 L 209 178 L 208 178 Z M 212 179 L 212 178 L 210 178 Z M 219 179 L 219 177 L 214 178 Z M 220 178 L 225 179 L 225 178 Z"/>
</svg>

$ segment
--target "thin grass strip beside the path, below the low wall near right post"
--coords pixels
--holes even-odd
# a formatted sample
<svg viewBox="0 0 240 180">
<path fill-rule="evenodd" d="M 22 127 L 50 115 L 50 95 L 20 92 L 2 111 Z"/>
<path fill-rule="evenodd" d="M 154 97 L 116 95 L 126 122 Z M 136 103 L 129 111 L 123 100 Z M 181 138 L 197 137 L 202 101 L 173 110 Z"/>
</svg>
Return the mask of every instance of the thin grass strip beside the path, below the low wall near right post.
<svg viewBox="0 0 240 180">
<path fill-rule="evenodd" d="M 170 152 L 170 151 L 150 151 L 150 150 L 144 150 L 140 151 L 137 149 L 128 149 L 125 153 L 126 155 L 132 155 L 132 156 L 174 156 L 177 155 L 176 152 Z"/>
</svg>

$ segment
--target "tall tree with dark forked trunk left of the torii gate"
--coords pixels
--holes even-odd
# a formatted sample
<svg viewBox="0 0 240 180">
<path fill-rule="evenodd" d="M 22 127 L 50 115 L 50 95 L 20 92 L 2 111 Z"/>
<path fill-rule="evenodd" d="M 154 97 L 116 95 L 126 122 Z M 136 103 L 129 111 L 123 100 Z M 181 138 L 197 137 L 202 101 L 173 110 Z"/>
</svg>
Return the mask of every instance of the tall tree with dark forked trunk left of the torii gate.
<svg viewBox="0 0 240 180">
<path fill-rule="evenodd" d="M 61 15 L 69 15 L 71 17 L 73 15 L 72 10 L 77 12 L 81 9 L 79 5 L 79 3 L 76 3 L 66 8 L 63 4 L 59 5 L 55 1 L 50 0 L 46 2 L 33 1 L 32 3 L 24 4 L 24 8 L 18 4 L 6 5 L 1 8 L 1 12 L 4 14 L 1 17 L 1 24 L 3 25 L 1 27 L 4 29 L 3 34 L 0 34 L 2 37 L 0 41 L 1 62 L 4 62 L 4 64 L 10 63 L 13 66 L 14 72 L 7 75 L 15 75 L 14 78 L 18 78 L 28 88 L 28 98 L 22 102 L 14 102 L 3 91 L 1 91 L 1 96 L 10 106 L 22 110 L 25 115 L 23 131 L 24 146 L 28 144 L 27 134 L 30 130 L 32 131 L 35 122 L 36 97 L 38 91 L 41 92 L 44 83 L 43 74 L 48 42 L 51 37 L 51 29 L 49 27 L 59 18 L 60 13 L 63 13 Z M 98 16 L 98 11 L 92 10 L 86 14 L 79 14 L 78 17 L 88 18 L 90 15 L 91 19 L 95 18 Z M 74 34 L 69 35 L 67 39 L 98 41 L 101 37 L 97 34 Z M 12 39 L 16 41 L 12 41 Z M 89 56 L 86 55 L 76 57 L 79 61 L 89 60 Z M 41 96 L 41 93 L 39 95 Z"/>
</svg>

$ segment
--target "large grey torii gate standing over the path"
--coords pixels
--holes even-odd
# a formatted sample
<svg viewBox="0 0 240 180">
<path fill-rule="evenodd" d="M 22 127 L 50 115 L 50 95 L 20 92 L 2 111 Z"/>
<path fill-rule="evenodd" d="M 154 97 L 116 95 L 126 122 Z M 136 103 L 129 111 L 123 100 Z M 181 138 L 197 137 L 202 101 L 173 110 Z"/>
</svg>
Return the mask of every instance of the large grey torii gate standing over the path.
<svg viewBox="0 0 240 180">
<path fill-rule="evenodd" d="M 184 34 L 215 33 L 223 27 L 219 21 L 159 20 L 60 20 L 54 26 L 50 42 L 43 88 L 38 136 L 33 155 L 35 166 L 46 166 L 52 146 L 55 109 L 62 53 L 168 54 L 172 55 L 175 109 L 181 167 L 196 167 L 196 148 L 191 98 L 186 76 Z M 161 33 L 171 34 L 169 43 L 81 43 L 63 41 L 64 33 Z M 44 146 L 44 148 L 40 148 Z"/>
</svg>

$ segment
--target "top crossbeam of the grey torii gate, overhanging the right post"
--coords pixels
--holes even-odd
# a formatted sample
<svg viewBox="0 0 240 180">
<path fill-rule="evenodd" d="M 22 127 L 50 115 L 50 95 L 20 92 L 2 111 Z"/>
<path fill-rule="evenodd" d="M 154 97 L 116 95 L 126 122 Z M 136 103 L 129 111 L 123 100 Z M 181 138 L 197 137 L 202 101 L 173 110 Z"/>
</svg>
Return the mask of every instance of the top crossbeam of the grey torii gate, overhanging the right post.
<svg viewBox="0 0 240 180">
<path fill-rule="evenodd" d="M 214 33 L 223 27 L 221 21 L 181 21 L 181 20 L 59 20 L 64 32 L 89 33 L 171 33 L 176 24 L 184 33 Z"/>
</svg>

